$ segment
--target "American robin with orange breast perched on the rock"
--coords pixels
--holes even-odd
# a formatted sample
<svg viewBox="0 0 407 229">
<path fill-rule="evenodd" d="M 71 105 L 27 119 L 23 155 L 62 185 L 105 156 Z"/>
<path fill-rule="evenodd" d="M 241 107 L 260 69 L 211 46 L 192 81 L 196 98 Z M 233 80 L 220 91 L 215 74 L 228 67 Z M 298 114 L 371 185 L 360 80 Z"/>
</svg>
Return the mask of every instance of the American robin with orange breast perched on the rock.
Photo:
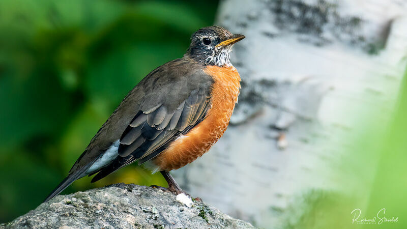
<svg viewBox="0 0 407 229">
<path fill-rule="evenodd" d="M 169 171 L 202 156 L 225 132 L 240 89 L 230 52 L 243 38 L 219 26 L 195 32 L 183 58 L 129 92 L 45 201 L 79 178 L 96 174 L 93 183 L 135 161 L 160 171 L 168 189 L 181 193 Z"/>
</svg>

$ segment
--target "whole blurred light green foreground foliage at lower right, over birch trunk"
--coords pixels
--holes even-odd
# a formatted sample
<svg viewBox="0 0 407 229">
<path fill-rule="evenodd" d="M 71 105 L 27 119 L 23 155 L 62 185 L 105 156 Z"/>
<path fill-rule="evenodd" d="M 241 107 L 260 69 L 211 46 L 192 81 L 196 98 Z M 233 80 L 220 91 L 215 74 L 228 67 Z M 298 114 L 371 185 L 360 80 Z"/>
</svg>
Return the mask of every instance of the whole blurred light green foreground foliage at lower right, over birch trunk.
<svg viewBox="0 0 407 229">
<path fill-rule="evenodd" d="M 282 228 L 407 228 L 407 69 L 400 86 L 391 112 L 377 102 L 368 115 L 358 114 L 357 135 L 341 136 L 347 148 L 333 174 L 340 191 L 303 193 L 287 208 Z"/>
</svg>

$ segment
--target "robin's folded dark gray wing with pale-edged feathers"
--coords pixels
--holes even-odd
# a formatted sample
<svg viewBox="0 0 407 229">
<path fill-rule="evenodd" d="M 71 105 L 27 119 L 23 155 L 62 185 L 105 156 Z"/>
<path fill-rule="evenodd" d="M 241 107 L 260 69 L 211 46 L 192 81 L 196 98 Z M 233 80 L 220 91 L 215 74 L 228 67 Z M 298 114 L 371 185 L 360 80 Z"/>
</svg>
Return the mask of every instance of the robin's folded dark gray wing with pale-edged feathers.
<svg viewBox="0 0 407 229">
<path fill-rule="evenodd" d="M 157 71 L 149 76 L 151 82 L 143 82 L 146 92 L 139 110 L 134 111 L 136 115 L 120 137 L 119 156 L 100 168 L 92 182 L 136 160 L 139 164 L 151 160 L 172 140 L 205 119 L 211 103 L 212 78 L 203 71 L 194 71 L 188 77 L 163 74 L 168 72 Z M 164 79 L 169 80 L 168 85 L 160 82 Z M 157 88 L 160 92 L 155 91 Z"/>
</svg>

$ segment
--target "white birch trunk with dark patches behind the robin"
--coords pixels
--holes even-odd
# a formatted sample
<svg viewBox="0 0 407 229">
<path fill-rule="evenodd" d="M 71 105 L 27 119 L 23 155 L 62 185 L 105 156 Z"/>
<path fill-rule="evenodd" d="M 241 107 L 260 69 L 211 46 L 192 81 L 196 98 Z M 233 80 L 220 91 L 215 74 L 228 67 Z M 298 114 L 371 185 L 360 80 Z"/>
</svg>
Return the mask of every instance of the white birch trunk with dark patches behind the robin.
<svg viewBox="0 0 407 229">
<path fill-rule="evenodd" d="M 226 214 L 273 228 L 299 193 L 343 189 L 335 173 L 344 139 L 363 134 L 357 124 L 371 112 L 385 124 L 394 106 L 406 12 L 403 0 L 222 1 L 218 24 L 246 36 L 231 58 L 241 95 L 224 136 L 175 171 L 177 181 Z"/>
</svg>

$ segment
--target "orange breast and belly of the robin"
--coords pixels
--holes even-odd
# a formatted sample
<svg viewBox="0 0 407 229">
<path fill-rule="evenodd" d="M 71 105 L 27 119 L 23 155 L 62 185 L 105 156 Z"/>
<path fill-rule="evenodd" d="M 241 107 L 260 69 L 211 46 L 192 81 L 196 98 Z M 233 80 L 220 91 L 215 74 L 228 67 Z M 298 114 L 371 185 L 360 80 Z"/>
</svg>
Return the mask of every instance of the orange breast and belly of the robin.
<svg viewBox="0 0 407 229">
<path fill-rule="evenodd" d="M 235 67 L 208 66 L 205 73 L 214 79 L 211 92 L 212 107 L 205 119 L 187 134 L 171 142 L 154 158 L 160 170 L 181 168 L 206 153 L 223 135 L 238 101 L 240 75 Z"/>
</svg>

